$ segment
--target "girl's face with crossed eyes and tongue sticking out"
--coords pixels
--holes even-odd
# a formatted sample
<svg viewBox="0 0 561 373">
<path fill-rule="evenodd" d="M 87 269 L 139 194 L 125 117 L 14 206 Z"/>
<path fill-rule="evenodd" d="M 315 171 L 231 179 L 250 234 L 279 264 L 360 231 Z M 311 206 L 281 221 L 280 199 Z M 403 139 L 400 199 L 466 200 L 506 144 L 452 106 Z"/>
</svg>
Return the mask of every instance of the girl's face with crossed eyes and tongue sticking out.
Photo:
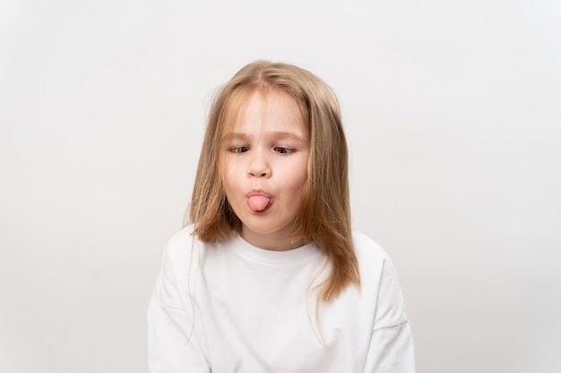
<svg viewBox="0 0 561 373">
<path fill-rule="evenodd" d="M 255 92 L 220 144 L 220 176 L 241 235 L 262 249 L 289 250 L 306 182 L 309 139 L 288 93 Z"/>
</svg>

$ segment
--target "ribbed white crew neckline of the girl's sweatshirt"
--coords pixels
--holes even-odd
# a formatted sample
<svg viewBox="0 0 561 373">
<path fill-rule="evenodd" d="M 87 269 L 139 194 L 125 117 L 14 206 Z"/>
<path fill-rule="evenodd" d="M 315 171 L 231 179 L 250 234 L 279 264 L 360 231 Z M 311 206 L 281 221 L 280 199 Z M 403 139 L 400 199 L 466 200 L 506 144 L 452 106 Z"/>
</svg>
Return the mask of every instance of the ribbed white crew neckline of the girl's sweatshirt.
<svg viewBox="0 0 561 373">
<path fill-rule="evenodd" d="M 296 249 L 266 250 L 246 242 L 238 233 L 234 236 L 231 246 L 238 255 L 247 259 L 280 266 L 298 264 L 313 255 L 321 255 L 314 242 L 306 243 Z"/>
</svg>

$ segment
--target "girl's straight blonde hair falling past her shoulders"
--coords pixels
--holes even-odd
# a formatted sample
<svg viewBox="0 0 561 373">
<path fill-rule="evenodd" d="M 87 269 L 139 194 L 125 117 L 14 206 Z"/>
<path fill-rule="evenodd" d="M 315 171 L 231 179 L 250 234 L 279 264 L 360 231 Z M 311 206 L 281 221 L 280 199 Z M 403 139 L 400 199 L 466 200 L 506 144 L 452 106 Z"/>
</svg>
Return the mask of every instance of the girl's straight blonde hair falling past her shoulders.
<svg viewBox="0 0 561 373">
<path fill-rule="evenodd" d="M 278 89 L 298 103 L 310 140 L 303 200 L 291 241 L 315 242 L 327 257 L 330 273 L 319 299 L 331 301 L 348 285 L 360 285 L 350 229 L 347 142 L 337 98 L 324 81 L 291 64 L 247 64 L 218 92 L 211 106 L 194 182 L 190 221 L 203 242 L 227 240 L 241 231 L 220 180 L 220 143 L 225 128 L 255 91 Z"/>
</svg>

